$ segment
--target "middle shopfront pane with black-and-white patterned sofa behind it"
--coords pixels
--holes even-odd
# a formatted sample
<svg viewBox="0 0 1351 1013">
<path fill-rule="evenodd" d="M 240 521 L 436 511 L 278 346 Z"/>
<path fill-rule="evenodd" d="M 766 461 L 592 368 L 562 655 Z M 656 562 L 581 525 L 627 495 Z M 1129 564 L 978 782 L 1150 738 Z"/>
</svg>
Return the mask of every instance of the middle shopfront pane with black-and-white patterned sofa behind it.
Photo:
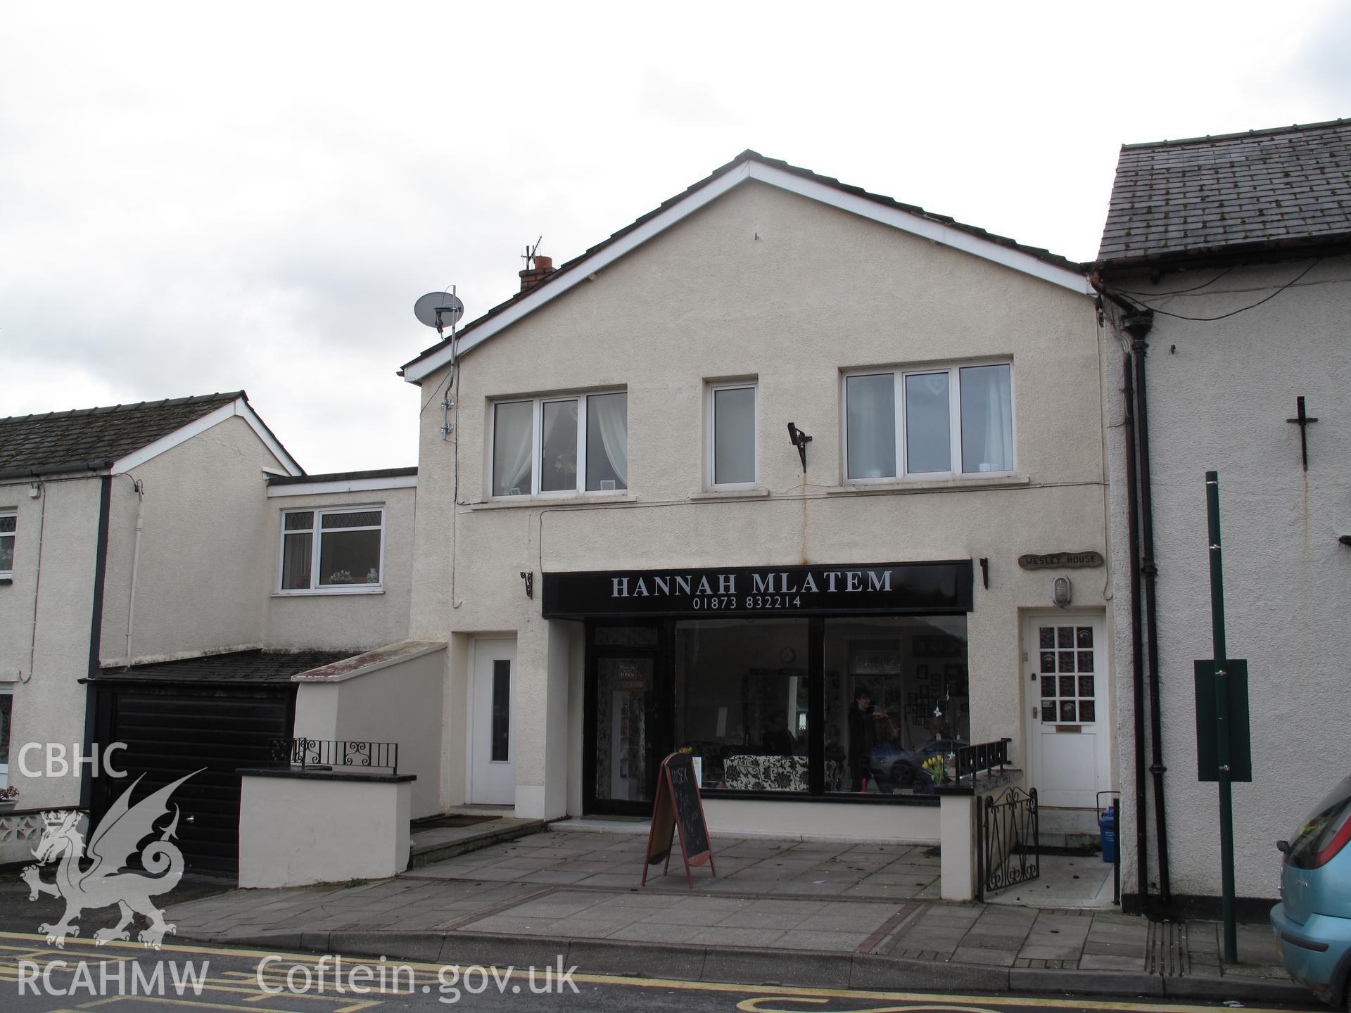
<svg viewBox="0 0 1351 1013">
<path fill-rule="evenodd" d="M 700 620 L 676 627 L 676 746 L 704 789 L 808 790 L 808 624 Z"/>
</svg>

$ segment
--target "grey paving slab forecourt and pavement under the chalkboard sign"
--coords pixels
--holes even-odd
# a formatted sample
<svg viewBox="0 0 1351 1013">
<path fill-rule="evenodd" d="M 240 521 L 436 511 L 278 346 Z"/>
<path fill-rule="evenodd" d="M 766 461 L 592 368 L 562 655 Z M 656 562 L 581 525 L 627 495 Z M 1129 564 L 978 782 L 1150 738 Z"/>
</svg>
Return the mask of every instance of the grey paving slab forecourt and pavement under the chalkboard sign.
<svg viewBox="0 0 1351 1013">
<path fill-rule="evenodd" d="M 640 886 L 644 847 L 631 835 L 544 832 L 394 879 L 236 890 L 172 914 L 184 939 L 354 955 L 544 963 L 566 950 L 590 962 L 584 970 L 680 967 L 709 981 L 857 983 L 889 968 L 893 987 L 919 989 L 966 968 L 965 981 L 985 982 L 969 987 L 996 990 L 1309 999 L 1265 927 L 1242 927 L 1244 963 L 1223 964 L 1215 923 L 943 904 L 932 848 L 727 841 L 719 875 L 694 868 L 690 889 L 682 868 Z"/>
</svg>

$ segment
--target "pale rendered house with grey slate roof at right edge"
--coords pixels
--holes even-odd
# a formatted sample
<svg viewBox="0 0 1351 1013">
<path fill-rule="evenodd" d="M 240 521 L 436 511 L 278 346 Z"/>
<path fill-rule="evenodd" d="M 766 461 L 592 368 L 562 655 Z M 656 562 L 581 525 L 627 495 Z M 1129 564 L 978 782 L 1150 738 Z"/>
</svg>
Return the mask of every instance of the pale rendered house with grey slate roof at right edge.
<svg viewBox="0 0 1351 1013">
<path fill-rule="evenodd" d="M 1277 840 L 1351 769 L 1351 122 L 1123 146 L 1092 266 L 1115 335 L 1125 902 L 1213 908 L 1221 889 L 1193 687 L 1193 662 L 1213 658 L 1213 470 L 1227 647 L 1247 659 L 1251 713 L 1236 894 L 1265 913 Z"/>
</svg>

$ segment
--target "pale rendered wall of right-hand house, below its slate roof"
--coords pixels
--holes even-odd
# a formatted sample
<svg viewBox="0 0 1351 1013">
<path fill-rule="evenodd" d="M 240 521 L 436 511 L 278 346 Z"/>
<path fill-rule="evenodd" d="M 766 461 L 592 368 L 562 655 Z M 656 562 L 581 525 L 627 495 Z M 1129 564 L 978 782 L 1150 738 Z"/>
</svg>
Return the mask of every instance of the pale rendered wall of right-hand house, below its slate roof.
<svg viewBox="0 0 1351 1013">
<path fill-rule="evenodd" d="M 1256 301 L 1308 262 L 1240 267 L 1219 284 L 1167 300 L 1216 271 L 1123 280 L 1151 304 L 1188 316 L 1215 316 Z M 1251 785 L 1233 787 L 1235 879 L 1239 897 L 1277 897 L 1275 841 L 1290 837 L 1331 786 L 1351 770 L 1351 258 L 1324 261 L 1270 303 L 1227 320 L 1155 317 L 1148 335 L 1163 755 L 1171 887 L 1182 895 L 1220 893 L 1219 802 L 1196 769 L 1192 662 L 1212 656 L 1204 474 L 1220 474 L 1225 616 L 1231 658 L 1248 659 Z M 1159 293 L 1159 294 L 1155 294 Z M 1175 347 L 1175 351 L 1174 351 Z M 1119 354 L 1106 370 L 1112 442 L 1112 523 L 1116 552 L 1116 671 L 1119 763 L 1133 791 L 1129 682 L 1129 571 Z M 1304 394 L 1309 471 L 1300 430 L 1285 420 Z M 1158 847 L 1150 793 L 1151 891 Z M 1135 886 L 1133 806 L 1123 808 L 1123 890 Z"/>
</svg>

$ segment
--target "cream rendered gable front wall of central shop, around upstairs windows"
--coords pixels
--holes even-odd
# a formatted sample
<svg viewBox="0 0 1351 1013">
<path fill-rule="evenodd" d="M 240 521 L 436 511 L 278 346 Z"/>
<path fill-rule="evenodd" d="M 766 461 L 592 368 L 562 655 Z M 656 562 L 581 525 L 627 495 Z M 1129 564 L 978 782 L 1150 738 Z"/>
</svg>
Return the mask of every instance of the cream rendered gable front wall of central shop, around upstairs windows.
<svg viewBox="0 0 1351 1013">
<path fill-rule="evenodd" d="M 1017 556 L 1108 550 L 1098 340 L 1084 296 L 747 182 L 463 358 L 458 443 L 423 417 L 411 635 L 517 636 L 517 801 L 561 816 L 546 781 L 567 770 L 550 737 L 569 725 L 549 717 L 562 646 L 540 617 L 542 571 L 988 556 L 969 617 L 971 735 L 1009 736 L 1021 758 L 1020 616 L 1050 604 L 1055 573 Z M 842 370 L 1009 355 L 1015 479 L 840 488 Z M 746 375 L 762 494 L 708 498 L 705 381 Z M 627 497 L 485 502 L 492 398 L 605 386 L 628 390 Z M 789 420 L 813 436 L 805 478 Z M 1109 612 L 1105 570 L 1071 575 L 1077 605 Z"/>
</svg>

